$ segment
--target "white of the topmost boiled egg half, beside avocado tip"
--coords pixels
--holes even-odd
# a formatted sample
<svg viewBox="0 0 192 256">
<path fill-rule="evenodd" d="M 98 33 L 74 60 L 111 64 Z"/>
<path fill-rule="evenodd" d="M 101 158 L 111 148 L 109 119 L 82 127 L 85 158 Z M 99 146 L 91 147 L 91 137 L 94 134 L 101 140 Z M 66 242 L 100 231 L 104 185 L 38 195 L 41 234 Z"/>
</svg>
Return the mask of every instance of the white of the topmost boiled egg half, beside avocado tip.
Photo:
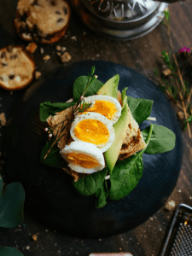
<svg viewBox="0 0 192 256">
<path fill-rule="evenodd" d="M 120 103 L 118 102 L 118 100 L 113 98 L 112 96 L 103 96 L 103 95 L 94 95 L 94 96 L 84 97 L 84 103 L 92 102 L 92 105 L 94 106 L 95 101 L 111 102 L 115 105 L 116 113 L 114 113 L 113 119 L 109 119 L 114 125 L 118 121 L 118 119 L 121 115 L 121 106 L 120 106 Z M 85 111 L 89 112 L 89 108 L 86 109 Z"/>
</svg>

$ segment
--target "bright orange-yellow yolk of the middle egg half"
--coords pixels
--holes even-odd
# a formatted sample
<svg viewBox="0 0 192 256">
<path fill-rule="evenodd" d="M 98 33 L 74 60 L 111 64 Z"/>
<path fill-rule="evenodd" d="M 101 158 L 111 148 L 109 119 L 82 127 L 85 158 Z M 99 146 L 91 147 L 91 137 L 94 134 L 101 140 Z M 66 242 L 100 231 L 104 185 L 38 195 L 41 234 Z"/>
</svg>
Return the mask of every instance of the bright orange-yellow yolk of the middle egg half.
<svg viewBox="0 0 192 256">
<path fill-rule="evenodd" d="M 76 125 L 75 136 L 79 140 L 95 145 L 108 143 L 109 132 L 106 125 L 96 119 L 84 119 Z"/>
</svg>

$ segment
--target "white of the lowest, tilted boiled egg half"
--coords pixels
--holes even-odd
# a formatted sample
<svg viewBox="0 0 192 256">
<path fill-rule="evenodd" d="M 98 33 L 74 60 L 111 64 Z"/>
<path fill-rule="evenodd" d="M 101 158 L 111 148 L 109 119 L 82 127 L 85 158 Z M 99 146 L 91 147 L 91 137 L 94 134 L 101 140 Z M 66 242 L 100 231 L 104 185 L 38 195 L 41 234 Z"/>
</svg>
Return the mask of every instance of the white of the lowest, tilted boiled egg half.
<svg viewBox="0 0 192 256">
<path fill-rule="evenodd" d="M 70 154 L 70 153 L 86 154 L 94 158 L 95 160 L 97 160 L 98 166 L 93 168 L 86 168 L 84 166 L 74 165 L 73 163 L 70 163 L 70 160 L 67 158 L 67 154 Z M 63 148 L 60 151 L 60 154 L 64 158 L 64 160 L 66 160 L 69 163 L 68 166 L 75 172 L 94 173 L 94 172 L 101 171 L 105 166 L 105 160 L 104 160 L 102 151 L 99 148 L 96 148 L 96 146 L 92 143 L 74 141 L 69 145 L 66 145 L 65 148 Z"/>
</svg>

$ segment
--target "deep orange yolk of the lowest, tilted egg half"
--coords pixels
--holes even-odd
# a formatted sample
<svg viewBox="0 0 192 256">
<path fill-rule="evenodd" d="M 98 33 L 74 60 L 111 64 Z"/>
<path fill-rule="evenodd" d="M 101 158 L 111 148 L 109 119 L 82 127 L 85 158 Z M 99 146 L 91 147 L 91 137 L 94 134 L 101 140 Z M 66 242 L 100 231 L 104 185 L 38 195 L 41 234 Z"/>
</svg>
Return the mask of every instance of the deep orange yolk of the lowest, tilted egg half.
<svg viewBox="0 0 192 256">
<path fill-rule="evenodd" d="M 94 168 L 99 164 L 97 160 L 86 154 L 70 153 L 67 154 L 67 158 L 74 165 L 82 166 L 85 168 Z"/>
</svg>

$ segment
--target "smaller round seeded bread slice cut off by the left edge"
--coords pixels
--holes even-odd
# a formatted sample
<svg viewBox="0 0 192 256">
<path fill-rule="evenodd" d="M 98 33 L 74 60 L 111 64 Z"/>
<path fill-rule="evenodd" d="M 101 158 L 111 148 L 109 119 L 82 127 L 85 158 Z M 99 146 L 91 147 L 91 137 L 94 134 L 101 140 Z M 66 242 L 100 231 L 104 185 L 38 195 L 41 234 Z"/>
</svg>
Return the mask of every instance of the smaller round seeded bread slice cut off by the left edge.
<svg viewBox="0 0 192 256">
<path fill-rule="evenodd" d="M 35 62 L 32 55 L 20 46 L 0 49 L 0 87 L 20 90 L 34 78 Z"/>
</svg>

